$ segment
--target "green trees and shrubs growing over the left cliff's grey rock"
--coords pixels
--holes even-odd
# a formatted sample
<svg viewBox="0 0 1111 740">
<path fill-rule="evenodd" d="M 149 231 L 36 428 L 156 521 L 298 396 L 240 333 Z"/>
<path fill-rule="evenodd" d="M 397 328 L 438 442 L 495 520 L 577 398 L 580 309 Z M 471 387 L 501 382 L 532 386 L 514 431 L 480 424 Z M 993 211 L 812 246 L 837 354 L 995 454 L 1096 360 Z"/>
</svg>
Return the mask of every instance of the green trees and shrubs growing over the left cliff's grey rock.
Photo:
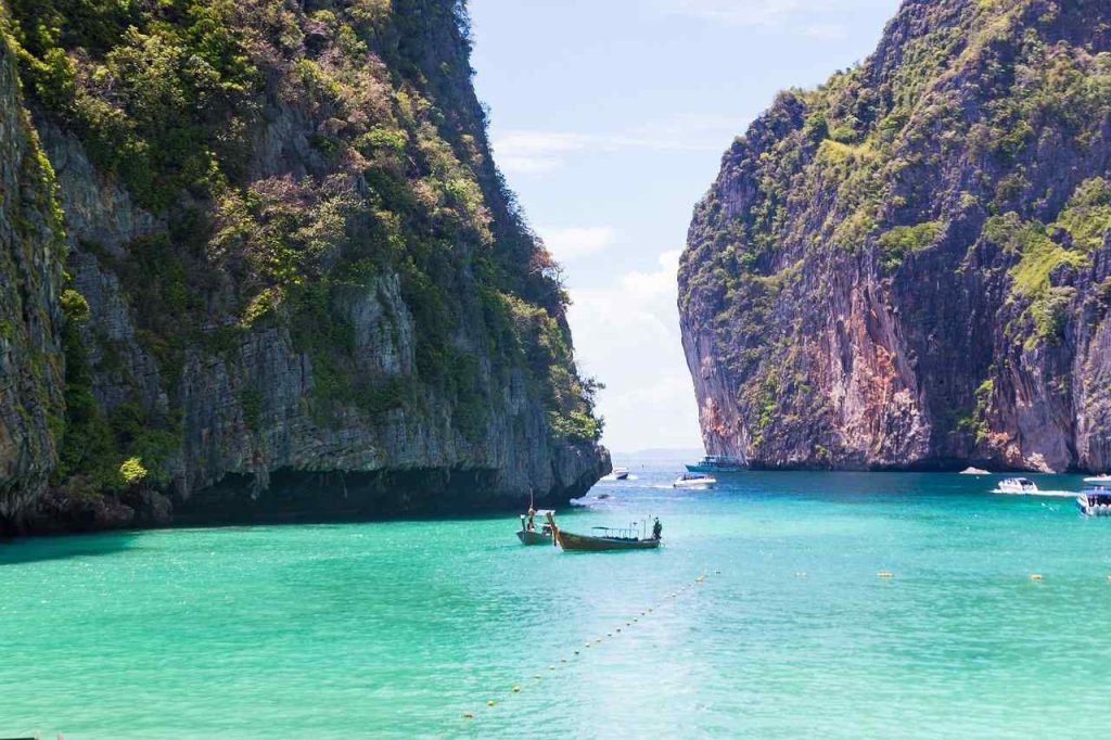
<svg viewBox="0 0 1111 740">
<path fill-rule="evenodd" d="M 307 358 L 321 430 L 447 408 L 481 447 L 523 381 L 553 443 L 597 442 L 558 268 L 491 160 L 462 2 L 3 2 L 36 122 L 153 224 L 122 243 L 74 231 L 82 269 L 119 281 L 138 346 L 104 333 L 110 303 L 88 322 L 66 308 L 59 486 L 126 486 L 131 459 L 148 482 L 180 477 L 190 373 L 239 368 L 266 332 Z M 367 296 L 384 337 L 364 336 Z M 253 372 L 232 382 L 258 447 L 274 410 Z"/>
</svg>

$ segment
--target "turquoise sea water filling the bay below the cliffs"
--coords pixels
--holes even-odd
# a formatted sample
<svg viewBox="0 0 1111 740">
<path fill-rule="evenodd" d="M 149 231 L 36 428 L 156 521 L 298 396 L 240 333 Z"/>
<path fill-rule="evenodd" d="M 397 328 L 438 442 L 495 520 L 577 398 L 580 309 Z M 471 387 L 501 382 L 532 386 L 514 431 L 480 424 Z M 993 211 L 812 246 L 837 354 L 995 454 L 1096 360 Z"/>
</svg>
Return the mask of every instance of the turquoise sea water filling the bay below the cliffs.
<svg viewBox="0 0 1111 740">
<path fill-rule="evenodd" d="M 658 514 L 649 552 L 512 517 L 0 544 L 0 737 L 1105 737 L 1111 520 L 994 479 L 678 470 L 561 513 Z"/>
</svg>

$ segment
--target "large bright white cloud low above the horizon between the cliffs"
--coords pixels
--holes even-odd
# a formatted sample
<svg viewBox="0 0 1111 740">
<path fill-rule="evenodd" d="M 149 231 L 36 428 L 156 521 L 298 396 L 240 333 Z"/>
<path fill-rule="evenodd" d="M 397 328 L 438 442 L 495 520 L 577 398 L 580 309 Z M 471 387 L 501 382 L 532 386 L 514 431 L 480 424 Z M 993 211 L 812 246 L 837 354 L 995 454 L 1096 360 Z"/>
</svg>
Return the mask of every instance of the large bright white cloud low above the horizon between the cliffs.
<svg viewBox="0 0 1111 740">
<path fill-rule="evenodd" d="M 679 251 L 659 268 L 619 274 L 603 288 L 571 289 L 571 330 L 599 396 L 604 442 L 615 450 L 701 444 L 698 409 L 680 347 L 675 309 Z"/>
</svg>

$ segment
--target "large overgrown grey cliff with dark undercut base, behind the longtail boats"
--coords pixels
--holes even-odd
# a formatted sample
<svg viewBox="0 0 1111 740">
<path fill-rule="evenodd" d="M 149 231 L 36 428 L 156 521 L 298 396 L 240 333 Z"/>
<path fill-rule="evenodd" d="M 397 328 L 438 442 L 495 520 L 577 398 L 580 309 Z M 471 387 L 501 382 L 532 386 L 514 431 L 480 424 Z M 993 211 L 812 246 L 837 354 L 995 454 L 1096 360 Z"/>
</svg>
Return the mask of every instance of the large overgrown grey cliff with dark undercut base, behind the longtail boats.
<svg viewBox="0 0 1111 740">
<path fill-rule="evenodd" d="M 64 411 L 0 479 L 9 528 L 554 503 L 608 471 L 461 4 L 10 2 L 69 241 L 41 302 L 87 309 L 38 340 Z"/>
</svg>

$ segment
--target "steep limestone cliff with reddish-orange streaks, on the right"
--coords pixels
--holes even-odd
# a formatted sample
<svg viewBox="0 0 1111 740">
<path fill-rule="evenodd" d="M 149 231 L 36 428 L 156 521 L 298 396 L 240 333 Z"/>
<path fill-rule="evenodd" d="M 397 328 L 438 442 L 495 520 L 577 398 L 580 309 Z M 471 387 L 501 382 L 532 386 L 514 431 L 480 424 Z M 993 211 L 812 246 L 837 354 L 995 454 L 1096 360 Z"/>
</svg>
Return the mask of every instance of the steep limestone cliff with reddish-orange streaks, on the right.
<svg viewBox="0 0 1111 740">
<path fill-rule="evenodd" d="M 680 267 L 709 450 L 1111 467 L 1111 7 L 907 0 L 733 142 Z"/>
</svg>

